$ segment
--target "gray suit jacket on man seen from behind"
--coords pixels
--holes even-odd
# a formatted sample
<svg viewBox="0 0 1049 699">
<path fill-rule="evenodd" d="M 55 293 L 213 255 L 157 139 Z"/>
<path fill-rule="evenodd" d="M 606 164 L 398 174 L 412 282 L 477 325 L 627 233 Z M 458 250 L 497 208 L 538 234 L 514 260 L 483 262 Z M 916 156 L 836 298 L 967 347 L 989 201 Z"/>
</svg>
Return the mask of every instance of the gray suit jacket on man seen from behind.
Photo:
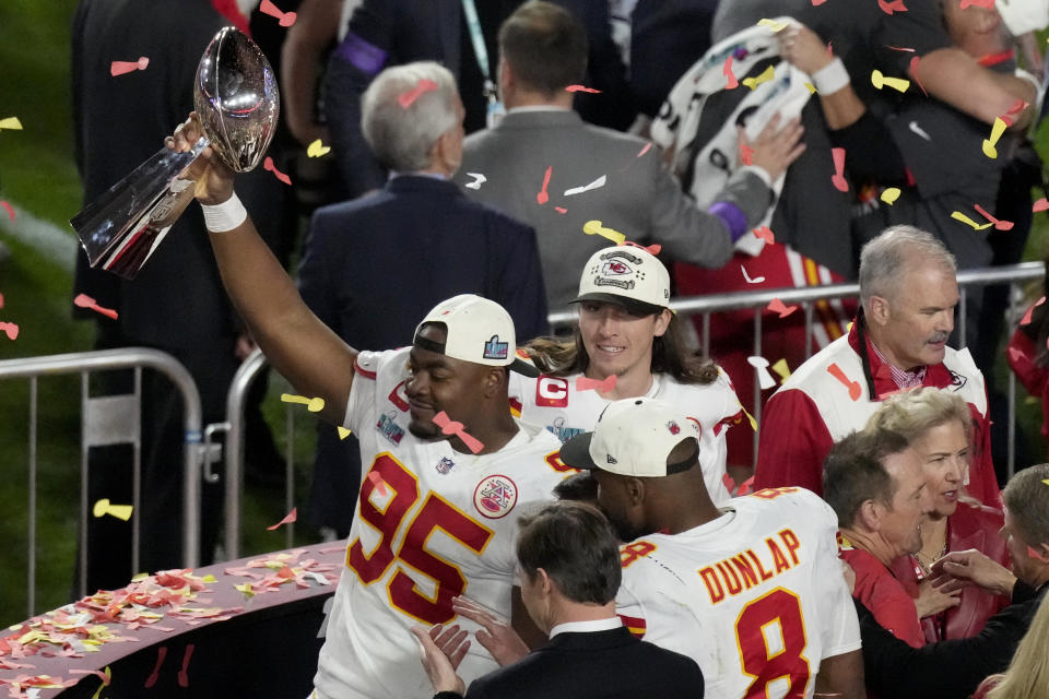
<svg viewBox="0 0 1049 699">
<path fill-rule="evenodd" d="M 696 208 L 662 167 L 656 147 L 636 137 L 587 125 L 574 111 L 517 111 L 495 129 L 465 142 L 460 185 L 480 173 L 486 181 L 467 189 L 474 199 L 535 228 L 546 301 L 561 310 L 576 297 L 587 259 L 612 242 L 586 235 L 584 224 L 600 221 L 627 240 L 663 247 L 664 259 L 718 268 L 732 254 L 721 218 Z M 551 169 L 549 200 L 537 196 Z M 603 187 L 566 197 L 565 191 L 605 176 Z M 719 201 L 738 206 L 755 226 L 771 191 L 753 171 L 738 173 Z"/>
</svg>

